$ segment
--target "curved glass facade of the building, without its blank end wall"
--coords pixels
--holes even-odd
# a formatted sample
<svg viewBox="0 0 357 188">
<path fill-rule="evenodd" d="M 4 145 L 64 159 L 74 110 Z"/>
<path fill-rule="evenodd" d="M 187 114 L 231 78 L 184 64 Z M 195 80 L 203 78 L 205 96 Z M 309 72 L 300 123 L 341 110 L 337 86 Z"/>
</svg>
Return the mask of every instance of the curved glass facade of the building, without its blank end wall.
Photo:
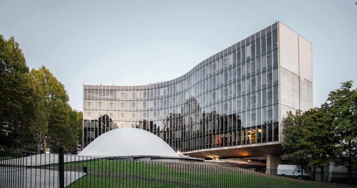
<svg viewBox="0 0 357 188">
<path fill-rule="evenodd" d="M 85 85 L 83 147 L 120 127 L 180 152 L 279 141 L 278 65 L 275 23 L 170 81 Z"/>
</svg>

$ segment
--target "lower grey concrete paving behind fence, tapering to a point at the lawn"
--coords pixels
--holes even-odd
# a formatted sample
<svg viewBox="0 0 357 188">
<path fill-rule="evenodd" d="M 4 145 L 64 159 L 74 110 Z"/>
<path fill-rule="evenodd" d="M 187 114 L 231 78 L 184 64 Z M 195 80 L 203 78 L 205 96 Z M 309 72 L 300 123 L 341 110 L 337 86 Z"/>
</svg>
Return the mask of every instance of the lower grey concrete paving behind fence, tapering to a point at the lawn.
<svg viewBox="0 0 357 188">
<path fill-rule="evenodd" d="M 64 185 L 81 178 L 85 173 L 65 171 Z M 0 187 L 59 187 L 58 171 L 36 168 L 0 168 Z"/>
</svg>

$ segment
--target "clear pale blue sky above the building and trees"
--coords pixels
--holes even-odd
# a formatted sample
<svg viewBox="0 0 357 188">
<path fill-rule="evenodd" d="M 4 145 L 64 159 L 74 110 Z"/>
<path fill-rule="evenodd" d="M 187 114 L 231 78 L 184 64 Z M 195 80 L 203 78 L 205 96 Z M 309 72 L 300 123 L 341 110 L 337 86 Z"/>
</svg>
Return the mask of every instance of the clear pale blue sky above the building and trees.
<svg viewBox="0 0 357 188">
<path fill-rule="evenodd" d="M 313 105 L 340 83 L 357 86 L 357 6 L 343 1 L 0 1 L 0 34 L 27 66 L 46 66 L 73 109 L 83 86 L 174 79 L 281 21 L 312 43 Z"/>
</svg>

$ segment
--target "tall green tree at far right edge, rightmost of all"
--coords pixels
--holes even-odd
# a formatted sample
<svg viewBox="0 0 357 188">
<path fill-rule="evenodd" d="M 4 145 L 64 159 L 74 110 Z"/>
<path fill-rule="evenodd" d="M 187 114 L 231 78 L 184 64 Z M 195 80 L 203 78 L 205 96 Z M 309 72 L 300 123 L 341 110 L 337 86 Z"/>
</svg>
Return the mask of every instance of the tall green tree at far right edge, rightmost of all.
<svg viewBox="0 0 357 188">
<path fill-rule="evenodd" d="M 328 94 L 325 106 L 335 127 L 335 165 L 348 170 L 349 184 L 352 171 L 357 170 L 357 90 L 351 89 L 352 81 L 341 83 L 341 87 Z"/>
</svg>

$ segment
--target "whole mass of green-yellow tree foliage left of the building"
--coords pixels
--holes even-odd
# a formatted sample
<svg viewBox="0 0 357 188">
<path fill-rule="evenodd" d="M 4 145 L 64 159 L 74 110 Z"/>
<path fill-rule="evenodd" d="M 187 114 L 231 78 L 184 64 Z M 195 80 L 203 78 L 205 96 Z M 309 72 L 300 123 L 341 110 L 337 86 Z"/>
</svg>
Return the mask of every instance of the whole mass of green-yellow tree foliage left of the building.
<svg viewBox="0 0 357 188">
<path fill-rule="evenodd" d="M 45 66 L 29 71 L 24 54 L 11 37 L 0 35 L 0 144 L 35 150 L 42 140 L 52 151 L 75 151 L 82 131 L 81 112 L 72 112 L 64 85 Z"/>
</svg>

